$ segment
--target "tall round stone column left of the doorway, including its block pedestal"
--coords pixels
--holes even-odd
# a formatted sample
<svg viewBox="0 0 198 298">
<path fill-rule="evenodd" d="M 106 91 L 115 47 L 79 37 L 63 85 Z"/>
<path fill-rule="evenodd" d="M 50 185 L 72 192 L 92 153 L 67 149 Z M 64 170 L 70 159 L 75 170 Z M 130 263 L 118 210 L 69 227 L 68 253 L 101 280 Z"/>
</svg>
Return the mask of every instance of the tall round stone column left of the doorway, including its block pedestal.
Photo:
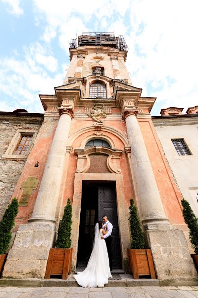
<svg viewBox="0 0 198 298">
<path fill-rule="evenodd" d="M 55 239 L 55 212 L 65 164 L 72 112 L 60 109 L 60 118 L 49 151 L 34 211 L 21 224 L 3 270 L 4 278 L 44 278 L 49 249 Z M 65 168 L 64 168 L 65 167 Z"/>
</svg>

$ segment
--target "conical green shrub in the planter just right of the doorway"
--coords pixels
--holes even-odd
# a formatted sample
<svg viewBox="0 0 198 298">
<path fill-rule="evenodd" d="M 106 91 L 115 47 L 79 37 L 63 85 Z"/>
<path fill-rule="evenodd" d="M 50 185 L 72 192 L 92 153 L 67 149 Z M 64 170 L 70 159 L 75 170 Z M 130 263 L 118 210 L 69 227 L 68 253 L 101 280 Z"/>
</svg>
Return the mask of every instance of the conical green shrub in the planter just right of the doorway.
<svg viewBox="0 0 198 298">
<path fill-rule="evenodd" d="M 140 219 L 138 217 L 137 208 L 134 205 L 134 200 L 130 200 L 131 206 L 129 207 L 129 222 L 131 229 L 131 248 L 146 248 L 145 238 L 143 235 Z"/>
</svg>

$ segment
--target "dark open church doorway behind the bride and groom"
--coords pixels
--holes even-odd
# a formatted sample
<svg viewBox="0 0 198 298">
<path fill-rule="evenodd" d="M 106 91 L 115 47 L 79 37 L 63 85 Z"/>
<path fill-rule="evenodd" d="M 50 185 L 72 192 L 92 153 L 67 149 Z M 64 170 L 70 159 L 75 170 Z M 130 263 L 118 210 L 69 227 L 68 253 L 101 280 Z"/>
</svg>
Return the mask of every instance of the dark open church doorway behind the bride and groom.
<svg viewBox="0 0 198 298">
<path fill-rule="evenodd" d="M 115 182 L 83 181 L 77 269 L 85 268 L 94 240 L 95 224 L 106 215 L 113 224 L 113 269 L 122 269 Z"/>
</svg>

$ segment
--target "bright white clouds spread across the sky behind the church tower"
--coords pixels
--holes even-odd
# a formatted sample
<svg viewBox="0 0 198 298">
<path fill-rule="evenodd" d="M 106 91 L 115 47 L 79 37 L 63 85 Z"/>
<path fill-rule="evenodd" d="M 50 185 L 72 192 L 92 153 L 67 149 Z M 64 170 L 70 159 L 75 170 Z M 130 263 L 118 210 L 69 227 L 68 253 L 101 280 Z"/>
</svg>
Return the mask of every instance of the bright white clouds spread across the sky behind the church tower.
<svg viewBox="0 0 198 298">
<path fill-rule="evenodd" d="M 19 1 L 3 1 L 19 7 Z M 33 3 L 36 25 L 44 24 L 40 38 L 47 48 L 46 44 L 35 42 L 25 49 L 23 61 L 7 58 L 8 71 L 5 65 L 0 71 L 1 77 L 10 74 L 13 87 L 22 84 L 27 88 L 30 102 L 31 94 L 37 90 L 50 93 L 54 85 L 62 83 L 63 74 L 57 74 L 58 61 L 48 49 L 53 39 L 56 37 L 56 46 L 68 53 L 68 42 L 76 34 L 97 30 L 124 36 L 129 48 L 126 65 L 133 85 L 143 88 L 143 96 L 157 96 L 155 105 L 174 105 L 186 110 L 198 104 L 197 0 L 34 0 Z M 64 69 L 68 69 L 69 60 L 65 63 Z M 7 92 L 13 94 L 11 88 Z M 19 92 L 22 94 L 22 90 Z"/>
</svg>

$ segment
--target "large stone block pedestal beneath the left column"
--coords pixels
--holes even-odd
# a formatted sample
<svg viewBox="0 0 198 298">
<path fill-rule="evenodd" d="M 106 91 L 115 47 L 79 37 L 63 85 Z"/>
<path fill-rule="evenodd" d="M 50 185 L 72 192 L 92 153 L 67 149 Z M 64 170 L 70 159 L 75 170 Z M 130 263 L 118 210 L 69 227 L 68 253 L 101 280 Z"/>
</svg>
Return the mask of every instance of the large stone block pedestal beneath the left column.
<svg viewBox="0 0 198 298">
<path fill-rule="evenodd" d="M 55 225 L 52 223 L 21 224 L 8 253 L 2 278 L 44 278 L 54 238 Z"/>
</svg>

